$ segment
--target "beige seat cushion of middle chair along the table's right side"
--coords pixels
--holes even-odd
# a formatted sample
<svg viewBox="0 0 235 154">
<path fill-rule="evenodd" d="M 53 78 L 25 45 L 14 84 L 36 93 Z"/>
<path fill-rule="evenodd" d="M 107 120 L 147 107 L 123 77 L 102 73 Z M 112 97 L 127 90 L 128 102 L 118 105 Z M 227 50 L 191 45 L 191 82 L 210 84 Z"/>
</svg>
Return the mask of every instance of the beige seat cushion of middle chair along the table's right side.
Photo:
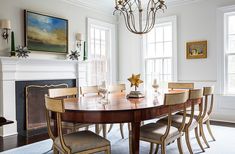
<svg viewBox="0 0 235 154">
<path fill-rule="evenodd" d="M 168 118 L 163 118 L 158 122 L 167 124 L 167 122 L 168 122 L 167 120 L 168 120 Z M 190 117 L 186 117 L 185 124 L 188 124 L 189 120 L 190 120 Z M 172 116 L 172 126 L 174 126 L 176 128 L 180 128 L 180 126 L 182 124 L 182 121 L 183 121 L 183 116 L 182 115 L 176 114 L 176 115 Z M 190 130 L 194 129 L 197 126 L 198 126 L 198 122 L 196 121 L 196 119 L 193 119 L 192 124 L 189 126 L 189 129 Z"/>
</svg>

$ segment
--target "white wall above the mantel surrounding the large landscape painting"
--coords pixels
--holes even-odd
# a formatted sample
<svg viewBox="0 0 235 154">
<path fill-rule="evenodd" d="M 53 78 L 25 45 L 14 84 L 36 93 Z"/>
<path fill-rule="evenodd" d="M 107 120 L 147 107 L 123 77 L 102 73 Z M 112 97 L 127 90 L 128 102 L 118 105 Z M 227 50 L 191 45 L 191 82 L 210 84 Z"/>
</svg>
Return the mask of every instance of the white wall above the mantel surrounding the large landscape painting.
<svg viewBox="0 0 235 154">
<path fill-rule="evenodd" d="M 75 33 L 86 34 L 86 18 L 99 19 L 116 24 L 116 17 L 96 10 L 73 6 L 62 0 L 1 0 L 0 19 L 11 20 L 12 30 L 15 32 L 16 46 L 24 45 L 24 17 L 23 10 L 39 12 L 69 20 L 69 51 L 75 48 Z M 8 56 L 10 42 L 0 38 L 0 56 Z M 65 55 L 50 54 L 46 52 L 32 52 L 33 58 L 64 59 Z"/>
</svg>

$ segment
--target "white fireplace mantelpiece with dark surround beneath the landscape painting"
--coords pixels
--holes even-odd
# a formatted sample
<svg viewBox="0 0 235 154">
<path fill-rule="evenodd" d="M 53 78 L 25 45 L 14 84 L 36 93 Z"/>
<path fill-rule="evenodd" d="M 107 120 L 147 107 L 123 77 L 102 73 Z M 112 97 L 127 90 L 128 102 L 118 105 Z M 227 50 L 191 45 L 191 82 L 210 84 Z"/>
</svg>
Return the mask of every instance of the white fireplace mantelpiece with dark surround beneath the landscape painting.
<svg viewBox="0 0 235 154">
<path fill-rule="evenodd" d="M 18 97 L 25 95 L 26 86 L 34 84 L 58 85 L 65 80 L 70 80 L 69 86 L 78 85 L 78 66 L 79 62 L 69 60 L 0 57 L 0 116 L 14 121 L 13 124 L 0 128 L 0 136 L 14 135 L 18 131 L 25 135 L 34 133 L 36 129 L 31 129 L 31 126 L 28 127 L 30 131 L 26 131 L 26 106 L 25 102 L 18 102 Z M 23 91 L 18 90 L 19 87 L 23 88 Z M 19 91 L 21 91 L 20 94 L 18 94 Z M 24 100 L 24 98 L 20 99 Z M 19 107 L 17 107 L 18 104 L 20 104 Z M 19 127 L 21 130 L 18 129 Z M 41 126 L 38 128 L 41 129 Z"/>
</svg>

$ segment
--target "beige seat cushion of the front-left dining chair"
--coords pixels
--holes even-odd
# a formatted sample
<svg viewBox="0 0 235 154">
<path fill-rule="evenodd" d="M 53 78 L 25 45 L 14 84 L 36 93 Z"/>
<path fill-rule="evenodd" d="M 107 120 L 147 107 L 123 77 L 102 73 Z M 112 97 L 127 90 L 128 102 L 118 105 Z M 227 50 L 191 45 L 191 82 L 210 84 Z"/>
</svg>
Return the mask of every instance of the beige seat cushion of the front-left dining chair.
<svg viewBox="0 0 235 154">
<path fill-rule="evenodd" d="M 65 144 L 72 149 L 72 153 L 110 145 L 108 140 L 91 131 L 80 131 L 66 134 L 64 135 L 64 141 Z M 54 143 L 61 148 L 59 137 L 55 139 Z"/>
</svg>

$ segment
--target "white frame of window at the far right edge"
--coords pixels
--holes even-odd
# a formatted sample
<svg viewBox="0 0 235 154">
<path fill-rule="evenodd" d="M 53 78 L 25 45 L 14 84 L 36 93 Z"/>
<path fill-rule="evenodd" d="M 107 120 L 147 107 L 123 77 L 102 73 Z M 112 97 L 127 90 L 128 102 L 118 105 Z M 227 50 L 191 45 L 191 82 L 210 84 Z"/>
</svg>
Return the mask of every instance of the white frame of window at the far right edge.
<svg viewBox="0 0 235 154">
<path fill-rule="evenodd" d="M 227 29 L 228 25 L 226 23 L 226 18 L 230 13 L 235 12 L 235 5 L 231 6 L 225 6 L 217 9 L 217 61 L 218 65 L 217 67 L 217 78 L 218 78 L 218 93 L 222 95 L 235 95 L 228 93 L 228 87 L 227 87 L 227 56 L 226 56 L 226 51 L 227 51 Z"/>
</svg>

